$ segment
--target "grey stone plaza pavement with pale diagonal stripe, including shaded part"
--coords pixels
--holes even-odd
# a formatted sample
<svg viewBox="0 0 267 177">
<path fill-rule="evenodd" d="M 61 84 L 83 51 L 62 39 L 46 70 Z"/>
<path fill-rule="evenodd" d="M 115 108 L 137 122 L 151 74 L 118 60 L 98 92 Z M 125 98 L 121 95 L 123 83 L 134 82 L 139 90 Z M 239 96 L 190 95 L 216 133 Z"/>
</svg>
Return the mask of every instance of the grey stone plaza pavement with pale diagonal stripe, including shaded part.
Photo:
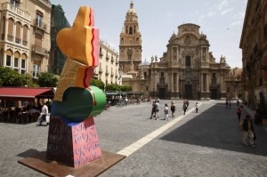
<svg viewBox="0 0 267 177">
<path fill-rule="evenodd" d="M 224 101 L 190 101 L 182 115 L 182 101 L 174 101 L 175 117 L 150 119 L 151 104 L 111 107 L 94 118 L 101 149 L 127 157 L 101 177 L 252 177 L 267 176 L 267 126 L 255 125 L 256 146 L 240 141 L 237 106 Z M 242 117 L 254 114 L 245 108 Z M 169 115 L 171 115 L 169 113 Z M 44 123 L 43 123 L 44 124 Z M 0 122 L 0 176 L 44 176 L 18 160 L 46 150 L 48 126 Z M 85 174 L 86 176 L 86 174 Z"/>
</svg>

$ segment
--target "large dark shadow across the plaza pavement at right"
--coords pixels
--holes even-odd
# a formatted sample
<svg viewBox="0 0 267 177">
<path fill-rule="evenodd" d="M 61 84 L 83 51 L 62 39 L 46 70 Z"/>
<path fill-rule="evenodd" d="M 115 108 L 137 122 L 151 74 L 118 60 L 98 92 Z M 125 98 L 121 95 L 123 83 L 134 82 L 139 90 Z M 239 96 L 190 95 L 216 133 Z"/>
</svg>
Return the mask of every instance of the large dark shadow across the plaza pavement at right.
<svg viewBox="0 0 267 177">
<path fill-rule="evenodd" d="M 267 156 L 267 132 L 263 126 L 255 125 L 255 148 L 242 146 L 236 109 L 225 109 L 221 103 L 203 112 L 192 112 L 198 116 L 166 134 L 161 140 Z M 245 115 L 247 112 L 243 110 L 241 117 Z"/>
</svg>

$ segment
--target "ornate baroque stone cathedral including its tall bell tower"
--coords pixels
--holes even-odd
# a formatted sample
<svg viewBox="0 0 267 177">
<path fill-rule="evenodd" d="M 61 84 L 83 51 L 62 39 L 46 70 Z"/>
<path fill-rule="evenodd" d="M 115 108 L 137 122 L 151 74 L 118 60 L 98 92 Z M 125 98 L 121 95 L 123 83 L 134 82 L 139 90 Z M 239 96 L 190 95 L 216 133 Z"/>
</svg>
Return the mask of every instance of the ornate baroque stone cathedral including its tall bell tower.
<svg viewBox="0 0 267 177">
<path fill-rule="evenodd" d="M 142 62 L 142 35 L 134 3 L 126 12 L 120 34 L 119 64 L 122 84 L 144 98 L 223 100 L 226 96 L 225 78 L 230 72 L 225 57 L 216 62 L 209 51 L 206 35 L 199 26 L 182 24 L 172 34 L 163 56 Z"/>
</svg>

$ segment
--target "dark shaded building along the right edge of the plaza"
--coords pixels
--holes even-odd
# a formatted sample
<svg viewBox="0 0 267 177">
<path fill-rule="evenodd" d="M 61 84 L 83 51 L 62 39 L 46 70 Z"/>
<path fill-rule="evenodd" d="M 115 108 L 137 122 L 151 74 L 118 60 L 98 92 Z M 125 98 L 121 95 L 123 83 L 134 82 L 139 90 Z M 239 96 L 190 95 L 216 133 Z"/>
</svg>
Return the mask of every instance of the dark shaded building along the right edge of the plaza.
<svg viewBox="0 0 267 177">
<path fill-rule="evenodd" d="M 243 101 L 256 109 L 267 94 L 267 2 L 248 0 L 239 47 L 242 49 Z"/>
</svg>

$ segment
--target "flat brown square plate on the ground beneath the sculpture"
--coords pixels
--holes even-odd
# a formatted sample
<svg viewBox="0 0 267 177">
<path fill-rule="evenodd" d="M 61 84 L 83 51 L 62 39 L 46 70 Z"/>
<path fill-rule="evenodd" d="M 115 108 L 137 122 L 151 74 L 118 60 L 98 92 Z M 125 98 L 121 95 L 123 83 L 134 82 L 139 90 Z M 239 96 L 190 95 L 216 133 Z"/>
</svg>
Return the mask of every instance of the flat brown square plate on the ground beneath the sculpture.
<svg viewBox="0 0 267 177">
<path fill-rule="evenodd" d="M 61 162 L 46 159 L 46 151 L 34 157 L 26 157 L 18 161 L 21 165 L 36 170 L 48 176 L 98 176 L 108 170 L 112 165 L 117 164 L 125 156 L 102 150 L 102 157 L 92 162 L 73 168 Z"/>
</svg>

